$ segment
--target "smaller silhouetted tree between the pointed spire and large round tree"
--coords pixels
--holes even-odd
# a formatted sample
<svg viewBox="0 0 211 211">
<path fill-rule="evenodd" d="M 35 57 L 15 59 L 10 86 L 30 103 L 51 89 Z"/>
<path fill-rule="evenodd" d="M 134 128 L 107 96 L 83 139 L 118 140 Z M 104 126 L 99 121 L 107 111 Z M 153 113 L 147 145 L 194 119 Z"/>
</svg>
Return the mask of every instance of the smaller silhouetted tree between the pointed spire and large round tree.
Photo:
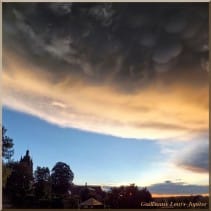
<svg viewBox="0 0 211 211">
<path fill-rule="evenodd" d="M 35 197 L 39 200 L 49 200 L 51 197 L 50 170 L 48 167 L 37 167 L 34 173 Z"/>
</svg>

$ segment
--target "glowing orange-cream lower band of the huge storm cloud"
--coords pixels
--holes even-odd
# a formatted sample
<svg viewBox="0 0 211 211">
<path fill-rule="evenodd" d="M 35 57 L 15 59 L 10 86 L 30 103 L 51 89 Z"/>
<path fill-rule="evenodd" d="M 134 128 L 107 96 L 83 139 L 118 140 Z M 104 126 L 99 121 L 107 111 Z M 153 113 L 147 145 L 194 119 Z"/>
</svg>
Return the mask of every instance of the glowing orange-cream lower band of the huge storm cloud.
<svg viewBox="0 0 211 211">
<path fill-rule="evenodd" d="M 9 58 L 9 59 L 8 59 Z M 3 105 L 61 127 L 137 139 L 185 140 L 208 130 L 208 85 L 163 84 L 136 92 L 51 73 L 5 50 Z M 58 70 L 59 71 L 59 70 Z"/>
</svg>

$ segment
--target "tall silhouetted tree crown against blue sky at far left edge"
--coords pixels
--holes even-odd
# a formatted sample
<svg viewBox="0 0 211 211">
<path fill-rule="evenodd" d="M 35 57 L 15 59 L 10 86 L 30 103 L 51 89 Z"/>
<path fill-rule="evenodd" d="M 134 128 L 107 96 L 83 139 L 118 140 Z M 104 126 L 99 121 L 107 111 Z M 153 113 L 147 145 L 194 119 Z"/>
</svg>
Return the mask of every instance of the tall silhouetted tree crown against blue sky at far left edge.
<svg viewBox="0 0 211 211">
<path fill-rule="evenodd" d="M 2 157 L 6 160 L 10 160 L 14 154 L 13 140 L 6 136 L 7 129 L 2 126 Z"/>
</svg>

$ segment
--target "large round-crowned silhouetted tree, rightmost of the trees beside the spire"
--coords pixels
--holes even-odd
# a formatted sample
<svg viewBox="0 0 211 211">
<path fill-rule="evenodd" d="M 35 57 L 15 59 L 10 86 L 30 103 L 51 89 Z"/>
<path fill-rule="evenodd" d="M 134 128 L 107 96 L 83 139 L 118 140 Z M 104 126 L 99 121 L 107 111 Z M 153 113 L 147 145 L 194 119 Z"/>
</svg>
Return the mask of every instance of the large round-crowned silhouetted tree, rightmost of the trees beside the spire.
<svg viewBox="0 0 211 211">
<path fill-rule="evenodd" d="M 74 174 L 69 165 L 63 162 L 57 162 L 51 173 L 53 194 L 59 197 L 63 197 L 65 194 L 68 194 L 73 178 Z"/>
</svg>

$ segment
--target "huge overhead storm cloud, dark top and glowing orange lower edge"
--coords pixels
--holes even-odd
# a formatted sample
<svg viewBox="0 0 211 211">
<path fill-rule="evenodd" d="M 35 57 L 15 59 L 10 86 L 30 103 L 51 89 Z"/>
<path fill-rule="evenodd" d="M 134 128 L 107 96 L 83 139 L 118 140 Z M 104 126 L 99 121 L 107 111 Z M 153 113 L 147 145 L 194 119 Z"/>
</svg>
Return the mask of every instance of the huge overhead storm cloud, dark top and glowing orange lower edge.
<svg viewBox="0 0 211 211">
<path fill-rule="evenodd" d="M 178 16 L 179 14 L 179 16 Z M 207 4 L 3 4 L 3 104 L 129 138 L 208 130 Z"/>
</svg>

